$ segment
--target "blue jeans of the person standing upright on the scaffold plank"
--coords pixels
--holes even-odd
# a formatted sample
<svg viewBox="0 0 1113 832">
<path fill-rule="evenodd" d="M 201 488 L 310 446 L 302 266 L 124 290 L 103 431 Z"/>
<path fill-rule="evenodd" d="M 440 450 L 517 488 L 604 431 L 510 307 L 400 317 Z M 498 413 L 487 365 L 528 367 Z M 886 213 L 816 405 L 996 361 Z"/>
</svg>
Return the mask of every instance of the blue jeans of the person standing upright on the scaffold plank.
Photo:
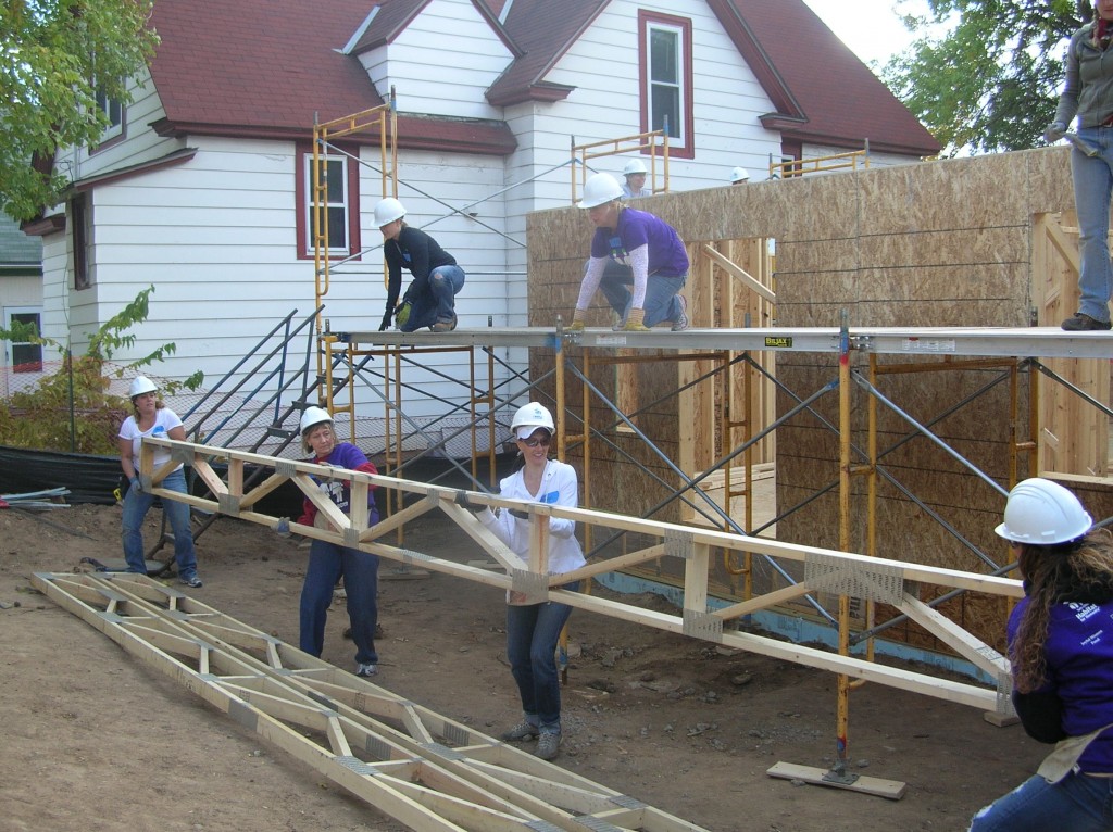
<svg viewBox="0 0 1113 832">
<path fill-rule="evenodd" d="M 1113 128 L 1081 127 L 1078 138 L 1101 150 L 1090 157 L 1071 151 L 1074 208 L 1078 212 L 1078 311 L 1094 320 L 1110 319 L 1113 267 L 1110 265 L 1110 192 L 1113 191 Z"/>
</svg>

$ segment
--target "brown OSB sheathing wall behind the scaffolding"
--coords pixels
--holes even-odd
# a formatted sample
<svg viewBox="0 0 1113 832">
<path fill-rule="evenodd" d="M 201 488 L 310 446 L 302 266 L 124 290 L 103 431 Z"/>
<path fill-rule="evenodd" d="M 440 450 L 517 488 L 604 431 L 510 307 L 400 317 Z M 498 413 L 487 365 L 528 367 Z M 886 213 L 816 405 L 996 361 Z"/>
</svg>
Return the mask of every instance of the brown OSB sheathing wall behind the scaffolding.
<svg viewBox="0 0 1113 832">
<path fill-rule="evenodd" d="M 1044 212 L 1073 209 L 1070 152 L 1066 148 L 1001 153 L 883 168 L 848 174 L 812 175 L 746 186 L 667 194 L 636 200 L 672 225 L 689 244 L 768 237 L 776 240 L 776 324 L 785 327 L 838 326 L 846 310 L 853 326 L 1025 327 L 1033 310 L 1032 227 Z M 529 306 L 531 326 L 571 319 L 592 232 L 585 211 L 542 211 L 528 222 Z M 594 299 L 589 325 L 610 319 L 602 295 Z M 700 309 L 690 309 L 699 326 Z M 1040 321 L 1056 325 L 1057 321 Z M 572 349 L 572 355 L 577 350 Z M 861 354 L 855 366 L 865 368 Z M 898 358 L 883 359 L 895 364 Z M 910 357 L 907 361 L 932 360 Z M 532 358 L 534 374 L 552 367 L 552 354 Z M 641 366 L 643 400 L 676 387 L 678 368 L 661 361 Z M 777 376 L 807 396 L 837 377 L 833 353 L 781 353 Z M 922 423 L 978 389 L 989 369 L 887 376 L 885 395 Z M 598 376 L 598 374 L 597 374 Z M 608 395 L 608 378 L 593 378 Z M 1027 380 L 1022 384 L 1026 398 Z M 569 400 L 579 410 L 580 386 L 570 385 Z M 857 388 L 854 435 L 866 447 L 866 399 Z M 780 395 L 778 413 L 795 402 Z M 598 405 L 598 425 L 612 420 Z M 659 405 L 639 425 L 669 456 L 678 458 L 676 399 Z M 837 395 L 823 398 L 817 410 L 838 424 Z M 1021 414 L 1026 418 L 1022 400 Z M 879 447 L 905 436 L 908 425 L 879 409 Z M 933 429 L 958 453 L 1003 485 L 1008 479 L 1011 435 L 1008 386 L 963 407 Z M 1026 425 L 1018 426 L 1022 432 Z M 800 416 L 777 432 L 777 503 L 780 512 L 805 502 L 838 477 L 838 439 L 811 416 Z M 634 440 L 613 437 L 668 482 L 667 466 L 653 460 Z M 605 465 L 613 453 L 592 445 L 591 505 L 643 514 L 667 489 L 650 477 L 633 476 L 629 465 Z M 575 456 L 571 457 L 575 462 Z M 860 457 L 859 457 L 860 460 Z M 1021 459 L 1022 466 L 1026 463 Z M 959 529 L 998 563 L 1008 555 L 992 533 L 999 522 L 1002 497 L 979 477 L 959 468 L 945 452 L 925 439 L 905 444 L 883 464 L 910 493 Z M 1022 467 L 1022 472 L 1024 467 Z M 866 549 L 865 481 L 856 478 L 853 501 L 854 551 Z M 1105 492 L 1080 494 L 1097 516 L 1110 514 Z M 674 519 L 673 509 L 659 515 Z M 794 512 L 777 524 L 777 536 L 839 547 L 837 491 Z M 984 572 L 968 548 L 888 482 L 879 485 L 877 554 L 885 557 Z M 723 583 L 729 580 L 723 575 Z"/>
</svg>

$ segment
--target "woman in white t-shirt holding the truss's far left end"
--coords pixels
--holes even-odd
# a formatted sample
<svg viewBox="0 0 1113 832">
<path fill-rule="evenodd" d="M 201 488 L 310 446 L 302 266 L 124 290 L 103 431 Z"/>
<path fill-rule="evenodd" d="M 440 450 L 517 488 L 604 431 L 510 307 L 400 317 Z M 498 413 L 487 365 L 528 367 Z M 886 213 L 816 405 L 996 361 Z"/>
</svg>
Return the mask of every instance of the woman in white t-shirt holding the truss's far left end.
<svg viewBox="0 0 1113 832">
<path fill-rule="evenodd" d="M 120 425 L 117 446 L 120 449 L 120 468 L 128 478 L 128 489 L 124 495 L 124 559 L 128 572 L 147 574 L 147 561 L 144 557 L 142 522 L 147 512 L 155 504 L 155 496 L 148 492 L 139 478 L 139 448 L 142 437 L 152 436 L 162 439 L 186 440 L 186 429 L 181 419 L 158 397 L 158 387 L 146 376 L 136 376 L 128 389 L 132 413 Z M 155 469 L 170 462 L 169 448 L 155 449 Z M 159 483 L 160 488 L 188 494 L 186 474 L 179 464 Z M 201 580 L 197 577 L 197 552 L 194 549 L 194 532 L 189 526 L 189 505 L 177 499 L 162 501 L 162 511 L 170 523 L 174 533 L 174 559 L 178 566 L 178 577 L 186 586 L 199 587 Z"/>
</svg>

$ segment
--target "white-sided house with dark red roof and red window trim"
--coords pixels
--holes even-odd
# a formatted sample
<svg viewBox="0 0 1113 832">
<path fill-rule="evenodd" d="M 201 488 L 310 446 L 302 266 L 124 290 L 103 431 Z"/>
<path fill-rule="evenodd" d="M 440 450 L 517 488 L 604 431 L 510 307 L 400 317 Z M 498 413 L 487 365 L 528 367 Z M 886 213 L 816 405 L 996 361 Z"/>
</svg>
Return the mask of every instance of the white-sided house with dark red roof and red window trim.
<svg viewBox="0 0 1113 832">
<path fill-rule="evenodd" d="M 157 0 L 151 22 L 161 43 L 132 101 L 100 145 L 58 151 L 71 188 L 24 230 L 42 238 L 47 335 L 81 349 L 154 285 L 132 351 L 174 341 L 157 369 L 174 378 L 219 377 L 276 320 L 312 313 L 313 126 L 392 90 L 398 198 L 467 273 L 460 327 L 525 324 L 526 216 L 569 204 L 573 143 L 668 116 L 671 190 L 867 141 L 871 166 L 939 149 L 802 0 Z M 368 330 L 386 297 L 377 140 L 338 142 L 328 164 L 344 263 L 324 317 Z M 446 390 L 429 385 L 411 415 L 439 412 Z"/>
</svg>

